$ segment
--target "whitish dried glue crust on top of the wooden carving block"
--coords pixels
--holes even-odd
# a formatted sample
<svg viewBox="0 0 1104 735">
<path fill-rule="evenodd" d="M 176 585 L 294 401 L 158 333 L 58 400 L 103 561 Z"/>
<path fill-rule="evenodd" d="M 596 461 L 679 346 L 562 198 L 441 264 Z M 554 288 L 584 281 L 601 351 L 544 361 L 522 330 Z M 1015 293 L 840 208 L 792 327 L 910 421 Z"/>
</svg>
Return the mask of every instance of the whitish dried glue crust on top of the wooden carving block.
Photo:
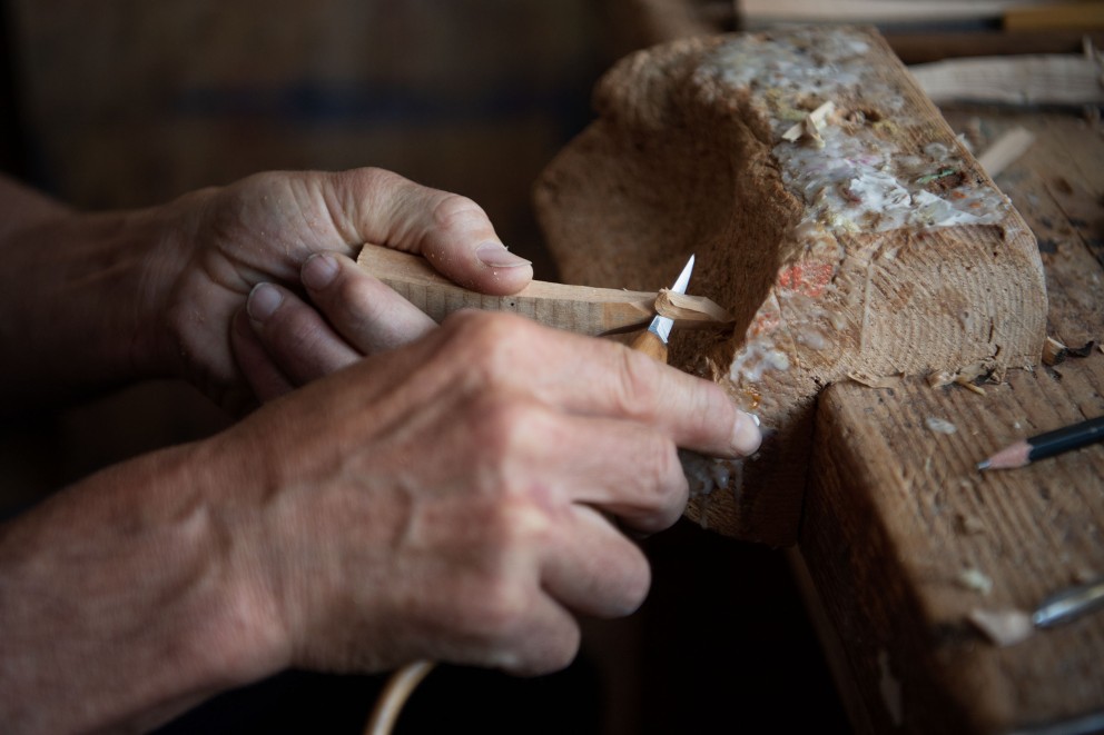
<svg viewBox="0 0 1104 735">
<path fill-rule="evenodd" d="M 847 29 L 746 36 L 714 50 L 698 73 L 752 90 L 771 123 L 782 181 L 810 222 L 844 234 L 1002 221 L 1004 196 L 959 175 L 957 147 L 931 141 L 901 151 L 888 139 L 905 100 L 868 63 L 869 50 L 862 33 Z M 855 109 L 841 109 L 852 100 Z M 837 109 L 817 123 L 816 145 L 793 140 L 795 120 L 828 102 Z"/>
</svg>

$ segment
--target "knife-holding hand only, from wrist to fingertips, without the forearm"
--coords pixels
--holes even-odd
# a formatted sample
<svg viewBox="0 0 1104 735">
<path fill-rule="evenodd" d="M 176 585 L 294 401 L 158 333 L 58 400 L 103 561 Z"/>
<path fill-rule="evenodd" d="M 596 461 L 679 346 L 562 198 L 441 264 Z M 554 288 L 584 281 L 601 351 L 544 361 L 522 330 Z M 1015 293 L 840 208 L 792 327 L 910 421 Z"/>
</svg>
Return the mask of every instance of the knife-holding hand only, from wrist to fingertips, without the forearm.
<svg viewBox="0 0 1104 735">
<path fill-rule="evenodd" d="M 267 404 L 210 449 L 262 487 L 228 503 L 277 602 L 287 663 L 565 665 L 573 613 L 632 612 L 644 532 L 687 499 L 682 446 L 759 433 L 723 390 L 621 345 L 465 312 Z M 257 493 L 260 495 L 257 495 Z"/>
</svg>

